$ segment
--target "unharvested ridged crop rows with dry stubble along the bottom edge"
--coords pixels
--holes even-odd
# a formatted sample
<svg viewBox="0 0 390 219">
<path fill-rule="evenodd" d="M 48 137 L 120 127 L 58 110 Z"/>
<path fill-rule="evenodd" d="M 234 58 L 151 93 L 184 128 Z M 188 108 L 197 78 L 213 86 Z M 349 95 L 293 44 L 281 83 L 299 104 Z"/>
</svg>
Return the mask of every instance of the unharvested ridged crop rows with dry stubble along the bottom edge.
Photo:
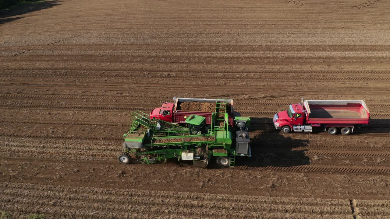
<svg viewBox="0 0 390 219">
<path fill-rule="evenodd" d="M 326 215 L 325 218 L 352 218 L 349 200 L 339 199 L 172 193 L 6 182 L 0 186 L 3 191 L 0 206 L 3 208 L 18 213 L 33 210 L 32 212 L 46 213 L 50 216 L 86 218 L 90 212 L 95 212 L 87 218 L 100 218 L 103 212 L 106 212 L 112 218 L 123 218 L 128 215 L 158 215 L 168 212 L 182 217 L 202 218 L 242 216 L 253 218 L 260 215 L 262 218 L 282 218 L 287 215 L 294 218 L 317 218 L 319 215 L 322 215 L 321 217 Z M 15 196 L 22 198 L 14 198 Z M 126 205 L 123 205 L 124 202 Z M 363 215 L 390 215 L 388 201 L 357 202 Z M 207 211 L 204 211 L 205 206 Z M 68 213 L 58 207 L 66 209 Z"/>
</svg>

